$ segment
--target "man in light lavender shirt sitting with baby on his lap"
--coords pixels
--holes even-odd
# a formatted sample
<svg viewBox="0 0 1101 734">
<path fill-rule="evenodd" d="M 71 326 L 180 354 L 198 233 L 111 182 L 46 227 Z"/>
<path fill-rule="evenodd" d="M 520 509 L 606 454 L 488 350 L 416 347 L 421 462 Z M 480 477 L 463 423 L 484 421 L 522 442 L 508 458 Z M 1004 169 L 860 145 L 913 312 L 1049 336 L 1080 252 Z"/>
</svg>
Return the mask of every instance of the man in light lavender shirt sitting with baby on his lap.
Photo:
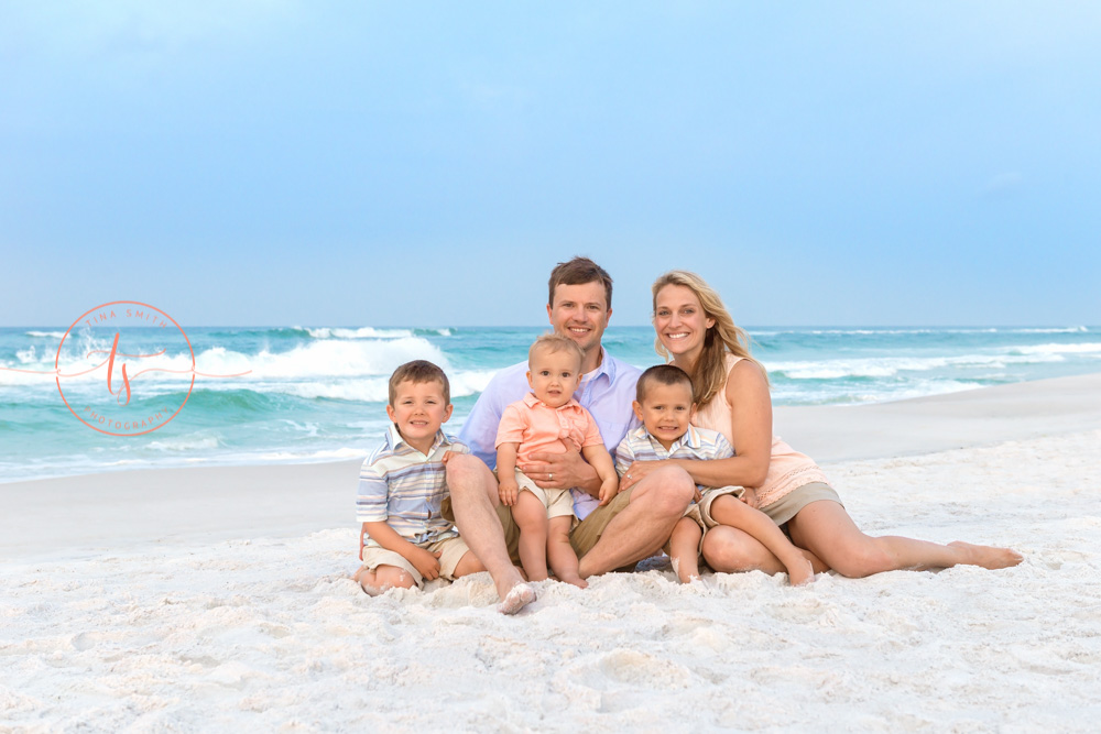
<svg viewBox="0 0 1101 734">
<path fill-rule="evenodd" d="M 591 260 L 574 258 L 552 271 L 548 286 L 550 325 L 585 350 L 585 379 L 574 397 L 592 414 L 604 446 L 613 452 L 634 425 L 631 402 L 640 371 L 608 354 L 600 343 L 612 315 L 612 280 Z M 497 479 L 489 467 L 495 464 L 494 439 L 504 407 L 528 390 L 526 371 L 527 362 L 521 362 L 494 375 L 460 432 L 471 453 L 449 454 L 447 461 L 456 525 L 493 577 L 502 599 L 499 609 L 505 614 L 534 601 L 535 592 L 510 556 L 519 533 L 508 508 L 499 512 Z M 596 499 L 600 479 L 576 450 L 536 454 L 520 469 L 544 489 L 574 490 L 574 510 L 581 522 L 570 533 L 570 544 L 580 558 L 582 579 L 633 566 L 657 552 L 695 491 L 687 472 L 663 467 L 601 507 Z"/>
</svg>

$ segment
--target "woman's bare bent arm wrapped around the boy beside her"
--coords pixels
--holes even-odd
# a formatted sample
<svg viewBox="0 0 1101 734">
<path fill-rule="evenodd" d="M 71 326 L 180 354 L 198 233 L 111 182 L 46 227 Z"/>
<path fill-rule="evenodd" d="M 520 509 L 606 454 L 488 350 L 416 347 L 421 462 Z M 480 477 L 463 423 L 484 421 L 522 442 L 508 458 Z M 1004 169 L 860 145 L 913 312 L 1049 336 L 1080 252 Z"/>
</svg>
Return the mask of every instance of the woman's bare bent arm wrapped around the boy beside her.
<svg viewBox="0 0 1101 734">
<path fill-rule="evenodd" d="M 742 360 L 730 369 L 723 391 L 731 405 L 730 437 L 738 456 L 712 461 L 636 461 L 623 475 L 620 491 L 629 489 L 662 464 L 680 467 L 691 475 L 694 482 L 704 486 L 764 484 L 772 459 L 772 397 L 768 395 L 768 383 L 760 366 Z M 715 399 L 722 398 L 716 396 Z"/>
</svg>

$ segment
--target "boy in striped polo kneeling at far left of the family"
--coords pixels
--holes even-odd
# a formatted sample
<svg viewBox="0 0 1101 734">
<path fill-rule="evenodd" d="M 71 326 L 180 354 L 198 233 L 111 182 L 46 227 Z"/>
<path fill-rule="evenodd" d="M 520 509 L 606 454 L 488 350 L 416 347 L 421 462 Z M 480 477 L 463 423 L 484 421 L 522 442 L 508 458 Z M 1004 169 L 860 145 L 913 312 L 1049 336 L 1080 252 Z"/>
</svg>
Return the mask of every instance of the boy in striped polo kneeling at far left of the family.
<svg viewBox="0 0 1101 734">
<path fill-rule="evenodd" d="M 407 362 L 390 376 L 393 423 L 363 462 L 356 497 L 363 566 L 352 578 L 372 596 L 486 570 L 440 513 L 448 495 L 444 456 L 468 452 L 440 430 L 451 408 L 447 375 L 432 362 Z"/>
</svg>

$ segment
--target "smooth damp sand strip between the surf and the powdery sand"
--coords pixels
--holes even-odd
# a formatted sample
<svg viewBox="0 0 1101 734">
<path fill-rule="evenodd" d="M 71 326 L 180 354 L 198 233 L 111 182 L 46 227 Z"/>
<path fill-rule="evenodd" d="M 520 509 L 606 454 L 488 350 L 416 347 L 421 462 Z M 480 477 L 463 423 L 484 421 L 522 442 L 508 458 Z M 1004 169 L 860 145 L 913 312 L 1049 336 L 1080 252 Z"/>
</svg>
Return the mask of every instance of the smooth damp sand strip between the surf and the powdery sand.
<svg viewBox="0 0 1101 734">
<path fill-rule="evenodd" d="M 894 403 L 777 407 L 774 418 L 777 435 L 824 465 L 1097 427 L 1101 373 Z M 353 527 L 361 461 L 137 469 L 0 484 L 12 508 L 0 517 L 0 561 Z"/>
</svg>

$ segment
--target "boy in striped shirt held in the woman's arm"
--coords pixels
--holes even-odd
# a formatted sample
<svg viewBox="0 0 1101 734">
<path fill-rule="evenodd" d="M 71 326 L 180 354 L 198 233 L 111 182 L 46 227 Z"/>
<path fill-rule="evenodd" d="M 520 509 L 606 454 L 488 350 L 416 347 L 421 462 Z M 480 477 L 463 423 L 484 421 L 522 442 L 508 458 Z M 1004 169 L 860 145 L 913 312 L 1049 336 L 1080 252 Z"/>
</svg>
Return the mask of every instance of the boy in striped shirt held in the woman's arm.
<svg viewBox="0 0 1101 734">
<path fill-rule="evenodd" d="M 691 377 L 680 368 L 658 364 L 639 377 L 634 414 L 642 426 L 630 431 L 615 449 L 615 470 L 622 475 L 635 461 L 662 459 L 729 459 L 734 450 L 722 434 L 697 428 L 689 420 L 696 410 Z M 717 525 L 734 527 L 755 538 L 787 568 L 792 585 L 814 580 L 814 569 L 783 530 L 760 510 L 741 501 L 750 487 L 696 487 L 666 546 L 673 570 L 683 583 L 699 578 L 704 535 Z"/>
</svg>

